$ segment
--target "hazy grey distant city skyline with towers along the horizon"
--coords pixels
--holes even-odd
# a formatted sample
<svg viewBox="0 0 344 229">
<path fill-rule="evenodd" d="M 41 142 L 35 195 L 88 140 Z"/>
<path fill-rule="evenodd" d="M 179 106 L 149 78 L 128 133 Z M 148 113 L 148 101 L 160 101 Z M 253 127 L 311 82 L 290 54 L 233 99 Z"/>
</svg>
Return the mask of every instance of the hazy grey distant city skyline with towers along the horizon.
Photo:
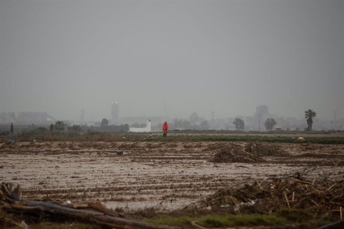
<svg viewBox="0 0 344 229">
<path fill-rule="evenodd" d="M 151 120 L 151 124 L 155 126 L 154 128 L 160 129 L 157 127 L 161 125 L 165 120 L 168 118 L 166 116 L 119 116 L 119 103 L 112 102 L 111 103 L 111 116 L 112 119 L 109 119 L 110 125 L 121 125 L 121 124 L 129 124 L 134 125 L 132 127 L 138 127 L 138 124 L 145 124 L 147 120 Z M 81 114 L 83 114 L 85 110 L 81 110 Z M 82 117 L 82 115 L 81 115 Z M 185 128 L 195 128 L 200 129 L 201 123 L 204 126 L 208 126 L 206 128 L 215 128 L 215 129 L 234 129 L 233 121 L 235 118 L 240 118 L 245 123 L 245 130 L 260 130 L 264 131 L 264 122 L 267 118 L 274 118 L 277 122 L 275 128 L 284 129 L 284 130 L 303 130 L 306 126 L 306 120 L 304 118 L 295 118 L 295 117 L 284 117 L 270 114 L 269 107 L 266 105 L 259 105 L 256 107 L 256 112 L 249 116 L 235 116 L 235 117 L 226 117 L 226 118 L 204 118 L 202 116 L 198 116 L 197 113 L 193 112 L 191 115 L 187 117 L 176 117 L 172 120 L 169 120 L 169 123 L 172 124 L 172 127 L 178 127 L 178 129 L 185 129 Z M 89 126 L 95 125 L 98 126 L 100 124 L 100 120 L 65 120 L 65 119 L 56 119 L 51 115 L 47 114 L 46 112 L 20 112 L 17 115 L 13 112 L 9 113 L 0 113 L 0 123 L 7 125 L 11 122 L 14 124 L 19 124 L 20 128 L 23 128 L 23 125 L 28 125 L 31 127 L 31 124 L 36 125 L 49 125 L 50 123 L 54 123 L 57 120 L 66 121 L 69 124 L 87 124 Z M 112 121 L 117 120 L 117 121 Z M 203 121 L 206 121 L 204 123 Z M 211 126 L 209 126 L 211 123 Z M 32 125 L 33 126 L 33 125 Z M 4 128 L 5 125 L 3 126 Z M 317 130 L 329 130 L 329 129 L 343 129 L 344 128 L 344 118 L 338 118 L 337 112 L 334 113 L 333 120 L 324 120 L 321 118 L 314 119 L 314 129 Z"/>
</svg>

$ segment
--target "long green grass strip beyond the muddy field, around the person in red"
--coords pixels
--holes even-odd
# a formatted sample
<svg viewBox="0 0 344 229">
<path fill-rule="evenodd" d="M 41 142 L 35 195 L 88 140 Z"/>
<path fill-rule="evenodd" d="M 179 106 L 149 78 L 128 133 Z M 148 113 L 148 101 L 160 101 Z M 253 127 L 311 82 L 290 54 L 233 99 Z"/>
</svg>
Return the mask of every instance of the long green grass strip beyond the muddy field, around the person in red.
<svg viewBox="0 0 344 229">
<path fill-rule="evenodd" d="M 171 131 L 172 132 L 172 131 Z M 174 142 L 174 141 L 241 141 L 241 142 L 279 142 L 279 143 L 320 143 L 320 144 L 344 144 L 344 137 L 338 136 L 322 136 L 322 137 L 308 137 L 307 134 L 302 136 L 305 137 L 305 141 L 297 142 L 290 136 L 263 136 L 259 135 L 261 133 L 247 133 L 247 135 L 242 135 L 238 132 L 238 135 L 223 135 L 219 133 L 207 132 L 193 132 L 193 133 L 170 133 L 167 138 L 158 132 L 153 132 L 154 137 L 149 138 L 148 133 L 113 133 L 113 132 L 97 132 L 97 131 L 87 131 L 82 133 L 76 132 L 54 132 L 49 133 L 48 131 L 30 131 L 23 132 L 16 136 L 0 136 L 0 141 L 5 141 L 8 139 L 14 139 L 16 141 L 164 141 L 164 142 Z M 233 133 L 231 133 L 233 134 Z M 266 134 L 264 132 L 264 134 Z M 313 132 L 312 132 L 313 134 Z M 297 135 L 298 136 L 298 135 Z"/>
</svg>

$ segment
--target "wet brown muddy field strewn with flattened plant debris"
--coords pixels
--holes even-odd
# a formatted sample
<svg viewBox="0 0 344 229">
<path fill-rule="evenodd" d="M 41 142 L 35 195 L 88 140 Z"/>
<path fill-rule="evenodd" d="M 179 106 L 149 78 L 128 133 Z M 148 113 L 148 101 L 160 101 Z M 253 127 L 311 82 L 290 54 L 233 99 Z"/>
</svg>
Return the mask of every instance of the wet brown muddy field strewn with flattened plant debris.
<svg viewBox="0 0 344 229">
<path fill-rule="evenodd" d="M 286 154 L 259 163 L 211 163 L 231 142 L 18 142 L 0 144 L 0 181 L 24 199 L 101 201 L 109 208 L 171 211 L 222 187 L 304 173 L 344 177 L 344 145 L 275 143 Z M 246 143 L 236 142 L 244 146 Z M 118 155 L 118 151 L 123 151 Z"/>
</svg>

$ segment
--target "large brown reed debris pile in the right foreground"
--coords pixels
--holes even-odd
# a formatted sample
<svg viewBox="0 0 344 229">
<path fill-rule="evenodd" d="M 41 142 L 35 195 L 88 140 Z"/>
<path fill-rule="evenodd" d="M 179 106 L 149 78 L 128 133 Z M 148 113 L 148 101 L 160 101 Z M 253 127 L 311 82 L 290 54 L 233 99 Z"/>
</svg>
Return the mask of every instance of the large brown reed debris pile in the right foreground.
<svg viewBox="0 0 344 229">
<path fill-rule="evenodd" d="M 202 202 L 209 209 L 232 213 L 269 213 L 280 209 L 307 209 L 314 215 L 344 212 L 344 180 L 308 181 L 300 177 L 269 178 L 252 184 L 221 188 Z"/>
</svg>

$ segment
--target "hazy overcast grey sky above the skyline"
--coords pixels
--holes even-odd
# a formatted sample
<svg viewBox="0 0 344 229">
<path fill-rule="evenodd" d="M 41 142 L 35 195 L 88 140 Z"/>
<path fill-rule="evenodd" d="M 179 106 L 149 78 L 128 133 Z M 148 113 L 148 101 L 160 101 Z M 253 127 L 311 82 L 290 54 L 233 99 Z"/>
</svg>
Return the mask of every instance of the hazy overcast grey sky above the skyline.
<svg viewBox="0 0 344 229">
<path fill-rule="evenodd" d="M 0 112 L 344 116 L 343 0 L 0 0 Z"/>
</svg>

